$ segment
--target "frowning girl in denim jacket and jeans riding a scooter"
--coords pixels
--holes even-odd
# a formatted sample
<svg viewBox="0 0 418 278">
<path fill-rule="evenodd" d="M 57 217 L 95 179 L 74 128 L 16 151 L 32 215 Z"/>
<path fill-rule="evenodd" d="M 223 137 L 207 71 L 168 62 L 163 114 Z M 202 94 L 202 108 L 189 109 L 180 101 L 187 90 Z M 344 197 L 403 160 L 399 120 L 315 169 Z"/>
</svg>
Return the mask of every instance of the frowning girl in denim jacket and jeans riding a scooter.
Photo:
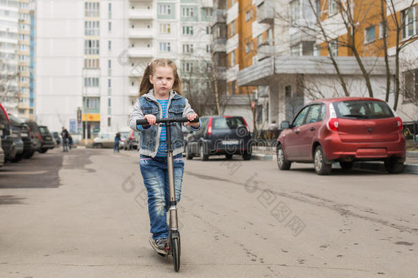
<svg viewBox="0 0 418 278">
<path fill-rule="evenodd" d="M 169 175 L 167 171 L 167 133 L 156 124 L 157 117 L 187 117 L 193 121 L 197 114 L 182 96 L 177 67 L 169 59 L 157 59 L 145 68 L 140 82 L 140 92 L 130 116 L 130 128 L 140 131 L 140 172 L 147 188 L 149 222 L 152 238 L 157 248 L 164 250 L 168 242 L 169 227 Z M 136 126 L 137 119 L 147 119 L 148 125 Z M 199 130 L 200 123 L 186 123 Z M 171 126 L 175 200 L 180 201 L 184 161 L 182 150 L 182 125 Z"/>
</svg>

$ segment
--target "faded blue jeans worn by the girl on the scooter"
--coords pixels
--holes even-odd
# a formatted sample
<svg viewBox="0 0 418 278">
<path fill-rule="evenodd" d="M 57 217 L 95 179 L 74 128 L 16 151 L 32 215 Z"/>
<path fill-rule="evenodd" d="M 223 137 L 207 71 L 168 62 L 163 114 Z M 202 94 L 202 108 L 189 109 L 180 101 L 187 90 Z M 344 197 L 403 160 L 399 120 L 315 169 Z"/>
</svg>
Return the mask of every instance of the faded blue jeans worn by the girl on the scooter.
<svg viewBox="0 0 418 278">
<path fill-rule="evenodd" d="M 140 172 L 148 195 L 148 213 L 153 240 L 169 237 L 167 211 L 169 209 L 169 173 L 166 157 L 147 157 L 140 155 Z M 183 154 L 173 158 L 175 200 L 180 202 L 184 171 Z"/>
</svg>

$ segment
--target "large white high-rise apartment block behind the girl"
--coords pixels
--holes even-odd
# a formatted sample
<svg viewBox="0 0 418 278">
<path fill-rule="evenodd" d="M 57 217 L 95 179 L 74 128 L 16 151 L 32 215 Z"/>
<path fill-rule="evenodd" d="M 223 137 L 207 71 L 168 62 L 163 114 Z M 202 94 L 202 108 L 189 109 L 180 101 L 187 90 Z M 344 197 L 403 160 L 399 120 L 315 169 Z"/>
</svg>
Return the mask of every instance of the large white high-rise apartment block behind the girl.
<svg viewBox="0 0 418 278">
<path fill-rule="evenodd" d="M 171 58 L 183 93 L 204 88 L 212 1 L 38 0 L 36 119 L 92 139 L 128 130 L 143 71 Z M 81 115 L 81 117 L 80 117 Z"/>
</svg>

